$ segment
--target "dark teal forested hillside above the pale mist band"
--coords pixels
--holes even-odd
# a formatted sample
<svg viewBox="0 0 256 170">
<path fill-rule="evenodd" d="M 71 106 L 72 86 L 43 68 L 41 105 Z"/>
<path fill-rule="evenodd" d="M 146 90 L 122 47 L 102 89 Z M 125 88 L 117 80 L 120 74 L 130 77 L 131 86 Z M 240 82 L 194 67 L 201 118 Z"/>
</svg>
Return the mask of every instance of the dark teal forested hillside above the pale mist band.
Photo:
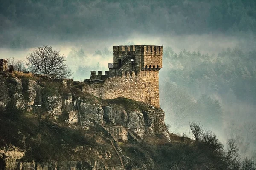
<svg viewBox="0 0 256 170">
<path fill-rule="evenodd" d="M 8 48 L 126 39 L 134 33 L 231 34 L 255 31 L 256 22 L 255 11 L 245 10 L 255 3 L 239 0 L 0 0 L 0 4 L 0 47 Z M 228 8 L 231 11 L 224 12 Z"/>
</svg>

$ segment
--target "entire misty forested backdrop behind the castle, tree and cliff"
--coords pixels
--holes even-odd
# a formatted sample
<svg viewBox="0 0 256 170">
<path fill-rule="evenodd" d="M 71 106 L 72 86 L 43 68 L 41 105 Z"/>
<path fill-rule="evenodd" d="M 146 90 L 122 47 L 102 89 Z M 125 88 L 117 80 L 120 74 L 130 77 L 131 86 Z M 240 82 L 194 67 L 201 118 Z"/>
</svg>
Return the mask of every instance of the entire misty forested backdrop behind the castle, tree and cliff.
<svg viewBox="0 0 256 170">
<path fill-rule="evenodd" d="M 255 0 L 0 0 L 0 24 L 0 58 L 51 45 L 81 81 L 108 70 L 113 45 L 163 44 L 169 131 L 200 122 L 256 159 Z"/>
</svg>

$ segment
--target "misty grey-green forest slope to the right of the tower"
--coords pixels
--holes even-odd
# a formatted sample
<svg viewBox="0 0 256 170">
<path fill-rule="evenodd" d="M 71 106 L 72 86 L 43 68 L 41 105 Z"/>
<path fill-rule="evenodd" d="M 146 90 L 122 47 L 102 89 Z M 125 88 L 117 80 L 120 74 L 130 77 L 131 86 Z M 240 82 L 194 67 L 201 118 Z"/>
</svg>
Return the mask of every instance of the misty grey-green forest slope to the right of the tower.
<svg viewBox="0 0 256 170">
<path fill-rule="evenodd" d="M 242 155 L 253 154 L 256 51 L 227 48 L 215 56 L 186 50 L 176 54 L 169 47 L 163 63 L 160 99 L 170 129 L 183 132 L 189 122 L 200 121 L 220 139 L 236 139 Z"/>
</svg>

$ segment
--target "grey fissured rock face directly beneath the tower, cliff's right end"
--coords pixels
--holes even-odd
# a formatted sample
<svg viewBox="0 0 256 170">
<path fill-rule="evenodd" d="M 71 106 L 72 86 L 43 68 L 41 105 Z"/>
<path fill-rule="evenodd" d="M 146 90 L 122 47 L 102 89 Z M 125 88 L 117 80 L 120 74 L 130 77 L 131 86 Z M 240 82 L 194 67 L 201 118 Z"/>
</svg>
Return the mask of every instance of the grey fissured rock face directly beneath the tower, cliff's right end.
<svg viewBox="0 0 256 170">
<path fill-rule="evenodd" d="M 112 108 L 110 106 L 102 106 L 104 110 L 104 120 L 111 126 L 123 126 L 132 130 L 136 135 L 143 138 L 147 136 L 161 136 L 169 140 L 164 134 L 167 133 L 166 125 L 164 124 L 164 112 L 161 109 L 148 111 L 128 111 L 128 114 L 122 108 Z M 114 127 L 113 127 L 114 128 Z M 110 133 L 114 135 L 115 130 Z M 115 132 L 118 133 L 118 132 Z"/>
</svg>

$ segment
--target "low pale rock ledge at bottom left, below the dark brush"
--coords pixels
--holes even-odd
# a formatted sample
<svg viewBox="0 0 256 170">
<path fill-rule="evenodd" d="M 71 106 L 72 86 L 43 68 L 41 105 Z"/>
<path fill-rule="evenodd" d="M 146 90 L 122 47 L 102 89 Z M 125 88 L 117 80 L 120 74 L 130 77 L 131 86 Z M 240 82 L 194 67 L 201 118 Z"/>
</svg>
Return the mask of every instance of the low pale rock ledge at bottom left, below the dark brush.
<svg viewBox="0 0 256 170">
<path fill-rule="evenodd" d="M 26 154 L 26 150 L 19 147 L 9 146 L 0 148 L 0 169 L 6 170 L 124 170 L 119 165 L 106 164 L 106 160 L 111 159 L 112 154 L 110 152 L 101 150 L 92 150 L 91 148 L 79 147 L 74 148 L 76 152 L 86 152 L 90 150 L 91 153 L 95 153 L 95 160 L 83 160 L 83 158 L 69 161 L 60 162 L 36 162 L 36 161 L 24 161 L 23 158 Z M 100 161 L 102 160 L 102 161 Z M 3 161 L 3 162 L 1 162 Z M 3 163 L 3 164 L 1 164 Z M 4 165 L 4 168 L 2 167 Z"/>
</svg>

